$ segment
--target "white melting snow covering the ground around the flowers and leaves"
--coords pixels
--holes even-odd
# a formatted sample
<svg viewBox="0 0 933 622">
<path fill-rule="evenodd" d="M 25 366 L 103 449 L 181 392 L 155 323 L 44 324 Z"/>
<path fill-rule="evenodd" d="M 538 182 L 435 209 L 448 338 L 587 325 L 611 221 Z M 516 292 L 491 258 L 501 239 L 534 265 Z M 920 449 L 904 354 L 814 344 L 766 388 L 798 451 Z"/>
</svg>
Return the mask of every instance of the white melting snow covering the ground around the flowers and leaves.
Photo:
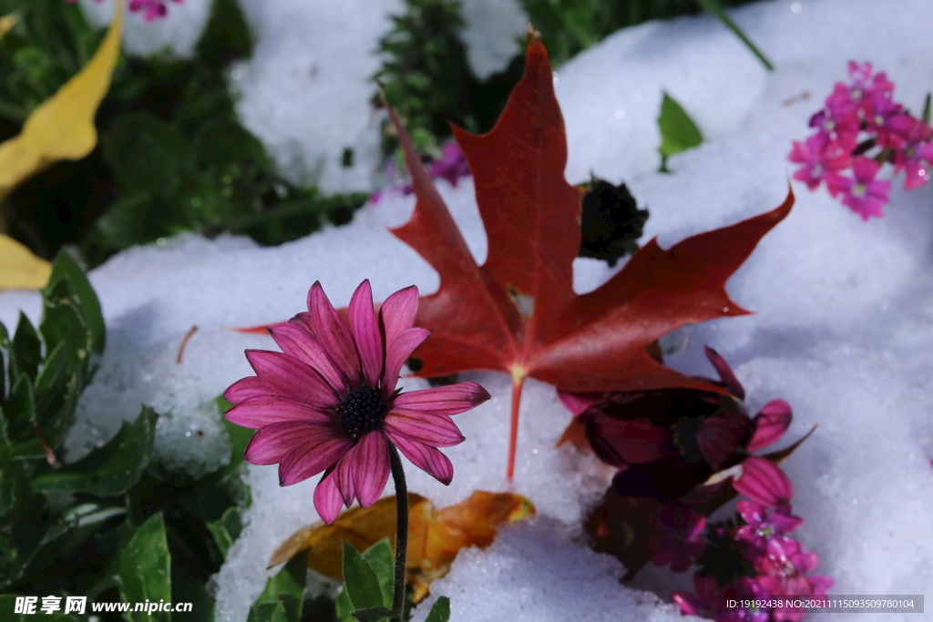
<svg viewBox="0 0 933 622">
<path fill-rule="evenodd" d="M 383 14 L 372 2 L 366 11 L 353 9 L 350 2 L 331 3 L 328 19 L 343 15 L 344 22 L 327 21 L 325 27 L 305 21 L 299 27 L 292 25 L 303 14 L 299 5 L 314 3 L 244 5 L 259 35 L 257 56 L 242 78 L 252 84 L 244 88 L 241 102 L 247 124 L 248 103 L 257 107 L 258 117 L 274 117 L 280 106 L 280 125 L 267 118 L 266 125 L 254 119 L 257 125 L 250 126 L 267 145 L 288 135 L 296 153 L 342 150 L 347 143 L 337 134 L 315 134 L 308 131 L 310 121 L 302 124 L 296 118 L 300 113 L 315 122 L 357 127 L 353 123 L 369 98 L 369 89 L 359 86 L 362 49 L 388 23 Z M 927 25 L 933 21 L 933 5 L 924 0 L 780 0 L 732 14 L 774 62 L 773 73 L 763 71 L 730 33 L 703 16 L 623 31 L 559 71 L 568 180 L 582 181 L 590 171 L 613 182 L 624 179 L 639 204 L 651 211 L 645 241 L 659 236 L 666 247 L 784 200 L 791 141 L 809 134 L 808 118 L 832 84 L 844 78 L 848 60 L 868 60 L 886 71 L 897 84 L 896 99 L 914 111 L 930 85 L 933 39 Z M 338 26 L 356 21 L 365 25 Z M 300 28 L 314 36 L 300 36 Z M 349 47 L 358 57 L 322 51 Z M 302 94 L 300 80 L 312 90 L 307 86 L 311 78 L 296 77 L 296 72 L 307 70 L 314 58 L 321 79 L 331 80 L 327 88 L 337 92 L 342 84 L 355 93 L 355 103 L 328 107 L 327 98 Z M 661 90 L 684 105 L 708 139 L 670 159 L 673 174 L 654 173 L 660 161 L 655 119 Z M 803 93 L 809 93 L 808 99 Z M 624 114 L 617 115 L 619 110 Z M 356 153 L 357 159 L 375 161 L 375 143 L 367 148 Z M 439 182 L 439 188 L 481 259 L 485 240 L 472 185 L 466 181 L 452 188 Z M 933 190 L 907 193 L 898 184 L 884 218 L 863 223 L 824 190 L 793 188 L 797 202 L 792 213 L 729 283 L 731 297 L 755 314 L 690 326 L 683 352 L 668 363 L 686 373 L 710 375 L 703 358 L 703 344 L 708 344 L 745 384 L 750 411 L 773 398 L 792 405 L 795 419 L 788 439 L 819 425 L 782 467 L 794 483 L 795 513 L 806 521 L 795 534 L 820 555 L 817 572 L 835 578 L 833 593 L 922 594 L 933 587 L 928 532 L 933 514 L 933 214 L 928 206 Z M 94 270 L 91 281 L 102 299 L 108 345 L 102 369 L 82 396 L 69 450 L 77 455 L 102 442 L 146 403 L 173 413 L 171 420 L 160 422 L 162 459 L 191 469 L 221 461 L 223 448 L 213 435 L 186 433 L 216 427 L 216 415 L 202 405 L 233 380 L 250 375 L 244 348 L 272 348 L 270 339 L 229 328 L 284 320 L 301 311 L 315 280 L 337 305 L 345 305 L 364 278 L 370 279 L 377 299 L 411 283 L 425 294 L 436 289 L 437 274 L 385 230 L 404 222 L 412 205 L 411 198 L 387 193 L 352 224 L 277 248 L 229 236 L 209 242 L 184 235 L 130 249 Z M 594 288 L 612 273 L 595 260 L 579 259 L 575 267 L 578 291 Z M 0 320 L 7 326 L 21 308 L 35 318 L 35 295 L 0 294 Z M 177 365 L 178 346 L 192 325 L 198 331 Z M 453 484 L 444 488 L 411 465 L 407 469 L 411 490 L 438 506 L 456 503 L 477 488 L 507 488 L 508 381 L 492 373 L 464 378 L 482 383 L 494 399 L 457 418 L 467 440 L 445 450 L 454 464 Z M 410 390 L 425 386 L 411 379 L 404 385 Z M 486 552 L 464 551 L 451 574 L 434 584 L 433 596 L 452 597 L 454 622 L 550 622 L 580 615 L 588 620 L 684 619 L 670 605 L 655 603 L 652 595 L 620 587 L 618 562 L 582 545 L 579 518 L 604 490 L 609 473 L 572 449 L 553 448 L 566 422 L 553 390 L 531 382 L 522 400 L 513 490 L 535 502 L 538 518 L 504 530 Z M 249 524 L 216 576 L 218 620 L 224 622 L 245 620 L 274 548 L 316 519 L 314 480 L 280 489 L 275 467 L 252 466 L 249 481 L 254 494 Z M 666 596 L 685 577 L 677 583 L 666 572 L 648 568 L 635 587 L 652 587 Z M 426 609 L 419 608 L 416 619 L 424 619 Z M 824 618 L 835 619 L 807 619 Z M 884 619 L 917 618 L 895 614 Z"/>
</svg>

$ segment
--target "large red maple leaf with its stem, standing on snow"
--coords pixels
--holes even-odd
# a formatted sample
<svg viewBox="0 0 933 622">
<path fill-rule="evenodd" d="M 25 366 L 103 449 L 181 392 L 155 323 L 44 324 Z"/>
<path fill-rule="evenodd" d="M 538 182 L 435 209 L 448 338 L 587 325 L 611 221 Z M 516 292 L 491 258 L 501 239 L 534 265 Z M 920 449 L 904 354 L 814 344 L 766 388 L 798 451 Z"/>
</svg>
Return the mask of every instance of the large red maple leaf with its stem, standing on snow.
<svg viewBox="0 0 933 622">
<path fill-rule="evenodd" d="M 411 220 L 392 232 L 438 270 L 437 293 L 421 298 L 415 324 L 431 331 L 415 356 L 420 377 L 473 370 L 512 378 L 508 479 L 526 378 L 568 391 L 692 387 L 716 391 L 655 361 L 646 346 L 676 328 L 744 315 L 726 294 L 731 274 L 790 211 L 777 209 L 663 250 L 638 250 L 595 291 L 573 290 L 580 242 L 580 190 L 564 179 L 564 119 L 547 51 L 529 35 L 522 81 L 492 131 L 453 128 L 476 187 L 488 236 L 478 266 L 431 182 L 411 138 L 390 115 L 417 197 Z"/>
</svg>

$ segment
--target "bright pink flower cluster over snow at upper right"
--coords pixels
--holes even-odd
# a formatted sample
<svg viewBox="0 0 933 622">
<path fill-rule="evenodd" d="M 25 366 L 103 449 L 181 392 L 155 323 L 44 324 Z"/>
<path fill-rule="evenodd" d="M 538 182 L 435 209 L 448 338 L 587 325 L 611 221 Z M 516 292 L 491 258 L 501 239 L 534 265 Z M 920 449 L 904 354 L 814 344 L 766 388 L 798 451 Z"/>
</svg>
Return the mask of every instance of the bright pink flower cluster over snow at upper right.
<svg viewBox="0 0 933 622">
<path fill-rule="evenodd" d="M 810 119 L 816 133 L 794 141 L 788 159 L 801 164 L 794 179 L 811 190 L 826 182 L 829 194 L 863 220 L 881 216 L 887 203 L 891 182 L 877 178 L 885 163 L 905 173 L 906 189 L 924 186 L 933 165 L 933 131 L 893 95 L 884 72 L 873 73 L 870 62 L 849 62 L 849 83 L 838 82 Z"/>
</svg>

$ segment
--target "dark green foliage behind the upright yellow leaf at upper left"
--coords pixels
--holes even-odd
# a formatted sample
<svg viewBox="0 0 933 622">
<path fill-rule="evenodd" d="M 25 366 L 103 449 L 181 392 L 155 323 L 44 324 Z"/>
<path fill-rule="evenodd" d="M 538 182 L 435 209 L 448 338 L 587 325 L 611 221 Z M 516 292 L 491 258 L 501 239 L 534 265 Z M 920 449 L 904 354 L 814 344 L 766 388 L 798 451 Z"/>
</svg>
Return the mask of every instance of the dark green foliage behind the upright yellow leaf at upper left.
<svg viewBox="0 0 933 622">
<path fill-rule="evenodd" d="M 19 74 L 12 86 L 0 87 L 0 117 L 7 119 L 7 126 L 0 121 L 0 138 L 19 131 L 25 113 L 77 73 L 101 37 L 77 5 L 0 5 L 5 1 L 21 4 L 24 17 L 11 33 L 19 38 L 0 40 L 0 71 L 15 69 L 9 60 L 15 46 L 40 49 L 43 66 L 54 71 L 35 96 L 14 88 L 25 83 Z M 37 38 L 60 31 L 52 42 Z M 44 257 L 77 244 L 96 265 L 132 244 L 180 231 L 209 237 L 233 231 L 277 244 L 326 221 L 348 222 L 366 195 L 325 197 L 287 183 L 237 120 L 225 72 L 252 47 L 236 0 L 216 0 L 192 60 L 121 57 L 95 120 L 100 145 L 89 157 L 59 162 L 18 188 L 7 207 L 10 234 Z M 19 109 L 22 114 L 7 112 Z"/>
</svg>

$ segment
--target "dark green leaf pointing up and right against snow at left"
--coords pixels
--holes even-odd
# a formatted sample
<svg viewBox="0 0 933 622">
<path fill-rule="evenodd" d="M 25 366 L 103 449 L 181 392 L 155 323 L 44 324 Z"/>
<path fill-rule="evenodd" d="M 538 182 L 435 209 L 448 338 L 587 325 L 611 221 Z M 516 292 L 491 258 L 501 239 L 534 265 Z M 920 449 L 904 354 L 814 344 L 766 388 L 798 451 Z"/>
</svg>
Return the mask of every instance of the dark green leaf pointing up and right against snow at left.
<svg viewBox="0 0 933 622">
<path fill-rule="evenodd" d="M 90 492 L 100 497 L 122 494 L 135 484 L 152 454 L 158 415 L 145 407 L 134 422 L 123 422 L 104 447 L 77 463 L 36 477 L 35 492 Z"/>
</svg>

